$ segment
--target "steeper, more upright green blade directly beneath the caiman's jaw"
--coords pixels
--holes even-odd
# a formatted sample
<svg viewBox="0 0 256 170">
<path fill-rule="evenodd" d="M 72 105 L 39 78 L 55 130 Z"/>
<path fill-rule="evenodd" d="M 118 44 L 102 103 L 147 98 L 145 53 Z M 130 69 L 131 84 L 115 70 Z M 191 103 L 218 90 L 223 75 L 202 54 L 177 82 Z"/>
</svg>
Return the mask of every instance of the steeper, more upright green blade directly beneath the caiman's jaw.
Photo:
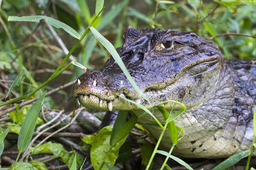
<svg viewBox="0 0 256 170">
<path fill-rule="evenodd" d="M 118 130 L 120 130 L 124 126 L 124 124 L 126 122 L 127 115 L 128 115 L 128 111 L 119 111 L 119 113 L 116 117 L 115 123 L 113 125 L 113 129 L 112 129 L 110 140 L 109 140 L 109 144 L 111 146 L 112 146 L 112 142 L 113 142 L 113 140 L 112 140 L 113 137 L 116 135 Z"/>
</svg>

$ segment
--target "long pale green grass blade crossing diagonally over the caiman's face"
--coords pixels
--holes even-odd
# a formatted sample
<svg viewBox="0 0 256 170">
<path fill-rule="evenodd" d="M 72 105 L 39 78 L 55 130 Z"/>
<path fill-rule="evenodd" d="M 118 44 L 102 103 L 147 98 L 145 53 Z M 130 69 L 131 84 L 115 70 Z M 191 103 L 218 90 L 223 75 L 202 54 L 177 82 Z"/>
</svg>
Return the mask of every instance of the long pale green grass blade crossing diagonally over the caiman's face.
<svg viewBox="0 0 256 170">
<path fill-rule="evenodd" d="M 136 92 L 138 92 L 146 101 L 148 101 L 149 104 L 151 104 L 150 101 L 148 100 L 148 98 L 143 94 L 143 92 L 140 90 L 140 88 L 137 86 L 137 84 L 131 78 L 130 73 L 126 72 L 127 69 L 125 67 L 125 64 L 122 62 L 119 54 L 116 52 L 115 47 L 105 37 L 103 37 L 95 28 L 91 27 L 90 30 L 91 30 L 91 32 L 93 32 L 93 35 L 96 37 L 96 39 L 111 53 L 112 57 L 114 58 L 116 63 L 119 65 L 119 67 L 122 69 L 122 71 L 124 72 L 128 81 L 134 87 Z"/>
</svg>

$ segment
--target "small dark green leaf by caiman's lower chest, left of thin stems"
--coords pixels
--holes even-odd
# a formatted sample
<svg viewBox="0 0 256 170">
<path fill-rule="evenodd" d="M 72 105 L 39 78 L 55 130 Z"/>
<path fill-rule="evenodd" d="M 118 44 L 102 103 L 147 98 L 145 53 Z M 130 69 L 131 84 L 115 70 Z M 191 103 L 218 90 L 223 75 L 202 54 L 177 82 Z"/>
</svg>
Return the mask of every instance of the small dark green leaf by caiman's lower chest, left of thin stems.
<svg viewBox="0 0 256 170">
<path fill-rule="evenodd" d="M 141 158 L 142 158 L 141 164 L 147 166 L 147 164 L 150 160 L 150 157 L 153 153 L 153 150 L 154 150 L 154 148 L 151 145 L 151 143 L 149 143 L 149 141 L 144 139 L 143 144 L 140 145 L 140 153 L 141 153 Z M 154 164 L 154 161 L 151 162 L 149 169 L 152 169 L 153 164 Z"/>
</svg>

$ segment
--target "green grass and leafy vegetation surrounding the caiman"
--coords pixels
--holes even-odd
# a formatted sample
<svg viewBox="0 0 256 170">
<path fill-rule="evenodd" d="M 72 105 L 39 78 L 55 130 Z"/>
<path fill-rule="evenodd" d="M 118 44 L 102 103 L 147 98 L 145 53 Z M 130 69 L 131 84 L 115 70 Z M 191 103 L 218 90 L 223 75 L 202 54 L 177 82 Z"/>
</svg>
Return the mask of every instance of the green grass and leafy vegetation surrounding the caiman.
<svg viewBox="0 0 256 170">
<path fill-rule="evenodd" d="M 73 109 L 75 101 L 70 100 L 70 86 L 84 70 L 102 67 L 109 53 L 120 67 L 125 68 L 113 47 L 122 45 L 122 32 L 128 25 L 138 29 L 193 31 L 212 40 L 227 59 L 256 59 L 254 0 L 3 0 L 0 3 L 0 155 L 4 153 L 0 164 L 7 169 L 44 170 L 53 167 L 74 170 L 77 167 L 88 167 L 90 162 L 95 169 L 113 169 L 114 165 L 118 169 L 122 167 L 122 162 L 131 158 L 131 146 L 125 139 L 134 126 L 141 130 L 132 131 L 137 134 L 137 144 L 150 151 L 150 158 L 146 156 L 149 153 L 145 149 L 141 152 L 142 164 L 146 169 L 152 168 L 155 153 L 167 156 L 166 161 L 172 158 L 192 169 L 185 161 L 171 155 L 174 141 L 169 153 L 157 150 L 161 138 L 153 150 L 151 144 L 141 137 L 142 133 L 146 134 L 146 130 L 136 125 L 137 117 L 132 115 L 126 122 L 127 112 L 118 115 L 114 126 L 105 127 L 93 135 L 65 132 L 70 126 L 69 121 L 61 127 L 55 126 L 72 115 L 62 113 L 69 113 Z M 104 43 L 108 42 L 104 37 L 113 46 Z M 132 83 L 131 77 L 129 81 Z M 132 84 L 143 96 L 136 84 Z M 54 94 L 55 92 L 58 93 Z M 156 121 L 163 132 L 169 127 L 171 138 L 181 138 L 183 130 L 176 127 L 173 120 L 182 114 L 186 107 L 177 101 L 164 102 L 175 102 L 180 104 L 182 109 L 175 114 L 168 113 L 158 104 L 154 107 L 163 113 L 166 124 Z M 139 107 L 145 110 L 145 114 L 152 115 L 150 109 Z M 46 118 L 44 112 L 57 114 L 51 120 Z M 71 124 L 79 122 L 81 112 L 82 109 L 76 110 L 75 117 L 72 121 L 70 119 Z M 255 121 L 256 118 L 254 123 Z M 255 126 L 254 124 L 254 128 Z M 61 137 L 64 138 L 50 138 L 53 135 L 60 138 L 61 133 L 58 132 L 62 132 Z M 49 136 L 46 137 L 46 133 Z M 76 135 L 77 138 L 74 137 Z M 83 135 L 84 138 L 81 139 Z M 93 142 L 97 140 L 107 144 Z M 17 154 L 8 154 L 8 148 Z M 87 159 L 85 151 L 90 152 L 90 160 Z M 215 169 L 233 166 L 250 153 L 245 151 L 236 154 Z M 10 158 L 9 161 L 6 161 L 7 158 Z M 58 163 L 54 162 L 54 159 L 57 159 Z M 166 161 L 161 169 L 170 168 Z"/>
</svg>

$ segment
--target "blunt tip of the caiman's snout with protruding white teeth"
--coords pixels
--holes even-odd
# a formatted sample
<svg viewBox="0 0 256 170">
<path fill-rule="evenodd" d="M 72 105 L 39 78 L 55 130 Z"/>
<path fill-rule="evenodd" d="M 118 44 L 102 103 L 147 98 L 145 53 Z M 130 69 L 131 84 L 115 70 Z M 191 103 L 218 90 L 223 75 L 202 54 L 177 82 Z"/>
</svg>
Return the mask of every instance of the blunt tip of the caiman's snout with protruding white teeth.
<svg viewBox="0 0 256 170">
<path fill-rule="evenodd" d="M 119 72 L 120 73 L 120 72 Z M 72 88 L 72 95 L 79 106 L 89 106 L 112 110 L 123 104 L 118 95 L 128 97 L 126 79 L 120 74 L 103 74 L 101 70 L 89 71 L 81 75 Z"/>
</svg>

